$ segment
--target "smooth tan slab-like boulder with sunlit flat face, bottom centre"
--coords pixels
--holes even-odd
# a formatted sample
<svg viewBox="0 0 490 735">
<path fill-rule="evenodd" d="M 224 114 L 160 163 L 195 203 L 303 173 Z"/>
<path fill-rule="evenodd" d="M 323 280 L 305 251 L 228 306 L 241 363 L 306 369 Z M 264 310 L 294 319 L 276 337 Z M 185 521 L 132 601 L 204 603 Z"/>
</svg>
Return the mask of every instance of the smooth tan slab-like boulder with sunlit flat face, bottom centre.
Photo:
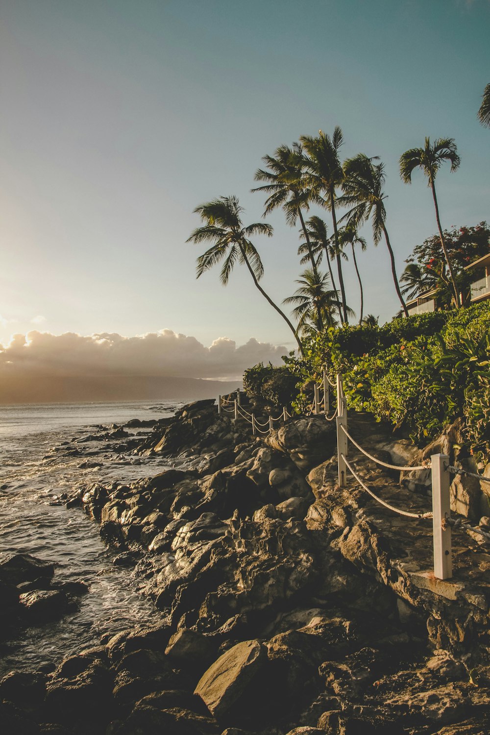
<svg viewBox="0 0 490 735">
<path fill-rule="evenodd" d="M 267 649 L 258 640 L 238 643 L 223 653 L 202 675 L 195 687 L 206 707 L 218 719 L 237 706 L 248 684 L 262 671 Z M 253 706 L 253 703 L 249 703 Z"/>
</svg>

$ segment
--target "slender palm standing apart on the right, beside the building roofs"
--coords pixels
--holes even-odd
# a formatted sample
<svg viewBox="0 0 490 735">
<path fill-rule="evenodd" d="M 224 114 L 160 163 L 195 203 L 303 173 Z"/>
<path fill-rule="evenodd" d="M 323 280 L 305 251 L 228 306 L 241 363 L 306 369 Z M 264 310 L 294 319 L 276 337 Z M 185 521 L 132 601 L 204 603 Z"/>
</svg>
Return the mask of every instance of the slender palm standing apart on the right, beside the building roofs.
<svg viewBox="0 0 490 735">
<path fill-rule="evenodd" d="M 451 171 L 456 171 L 459 167 L 461 159 L 458 156 L 454 138 L 438 138 L 438 140 L 434 141 L 433 146 L 431 146 L 429 138 L 426 137 L 424 148 L 410 148 L 410 150 L 405 151 L 405 153 L 400 156 L 400 176 L 406 184 L 411 184 L 412 171 L 414 171 L 414 168 L 420 168 L 428 178 L 428 186 L 432 189 L 432 198 L 434 201 L 434 207 L 436 208 L 436 220 L 437 227 L 439 229 L 439 237 L 441 238 L 442 251 L 444 253 L 444 258 L 446 259 L 450 281 L 453 286 L 456 309 L 458 309 L 460 306 L 458 287 L 455 282 L 453 265 L 449 254 L 447 253 L 444 234 L 442 234 L 436 196 L 436 174 L 444 161 L 451 162 Z"/>
</svg>

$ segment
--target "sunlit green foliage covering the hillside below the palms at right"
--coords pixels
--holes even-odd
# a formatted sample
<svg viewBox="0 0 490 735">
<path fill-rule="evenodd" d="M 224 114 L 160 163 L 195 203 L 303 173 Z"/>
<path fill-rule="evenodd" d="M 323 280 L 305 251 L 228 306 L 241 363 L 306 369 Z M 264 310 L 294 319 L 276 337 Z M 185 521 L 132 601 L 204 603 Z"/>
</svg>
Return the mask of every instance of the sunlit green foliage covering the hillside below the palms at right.
<svg viewBox="0 0 490 735">
<path fill-rule="evenodd" d="M 419 445 L 457 417 L 472 451 L 490 453 L 490 302 L 460 311 L 344 326 L 311 340 L 306 359 L 285 359 L 299 383 L 344 377 L 347 406 L 408 429 Z M 302 398 L 298 398 L 298 406 Z"/>
</svg>

